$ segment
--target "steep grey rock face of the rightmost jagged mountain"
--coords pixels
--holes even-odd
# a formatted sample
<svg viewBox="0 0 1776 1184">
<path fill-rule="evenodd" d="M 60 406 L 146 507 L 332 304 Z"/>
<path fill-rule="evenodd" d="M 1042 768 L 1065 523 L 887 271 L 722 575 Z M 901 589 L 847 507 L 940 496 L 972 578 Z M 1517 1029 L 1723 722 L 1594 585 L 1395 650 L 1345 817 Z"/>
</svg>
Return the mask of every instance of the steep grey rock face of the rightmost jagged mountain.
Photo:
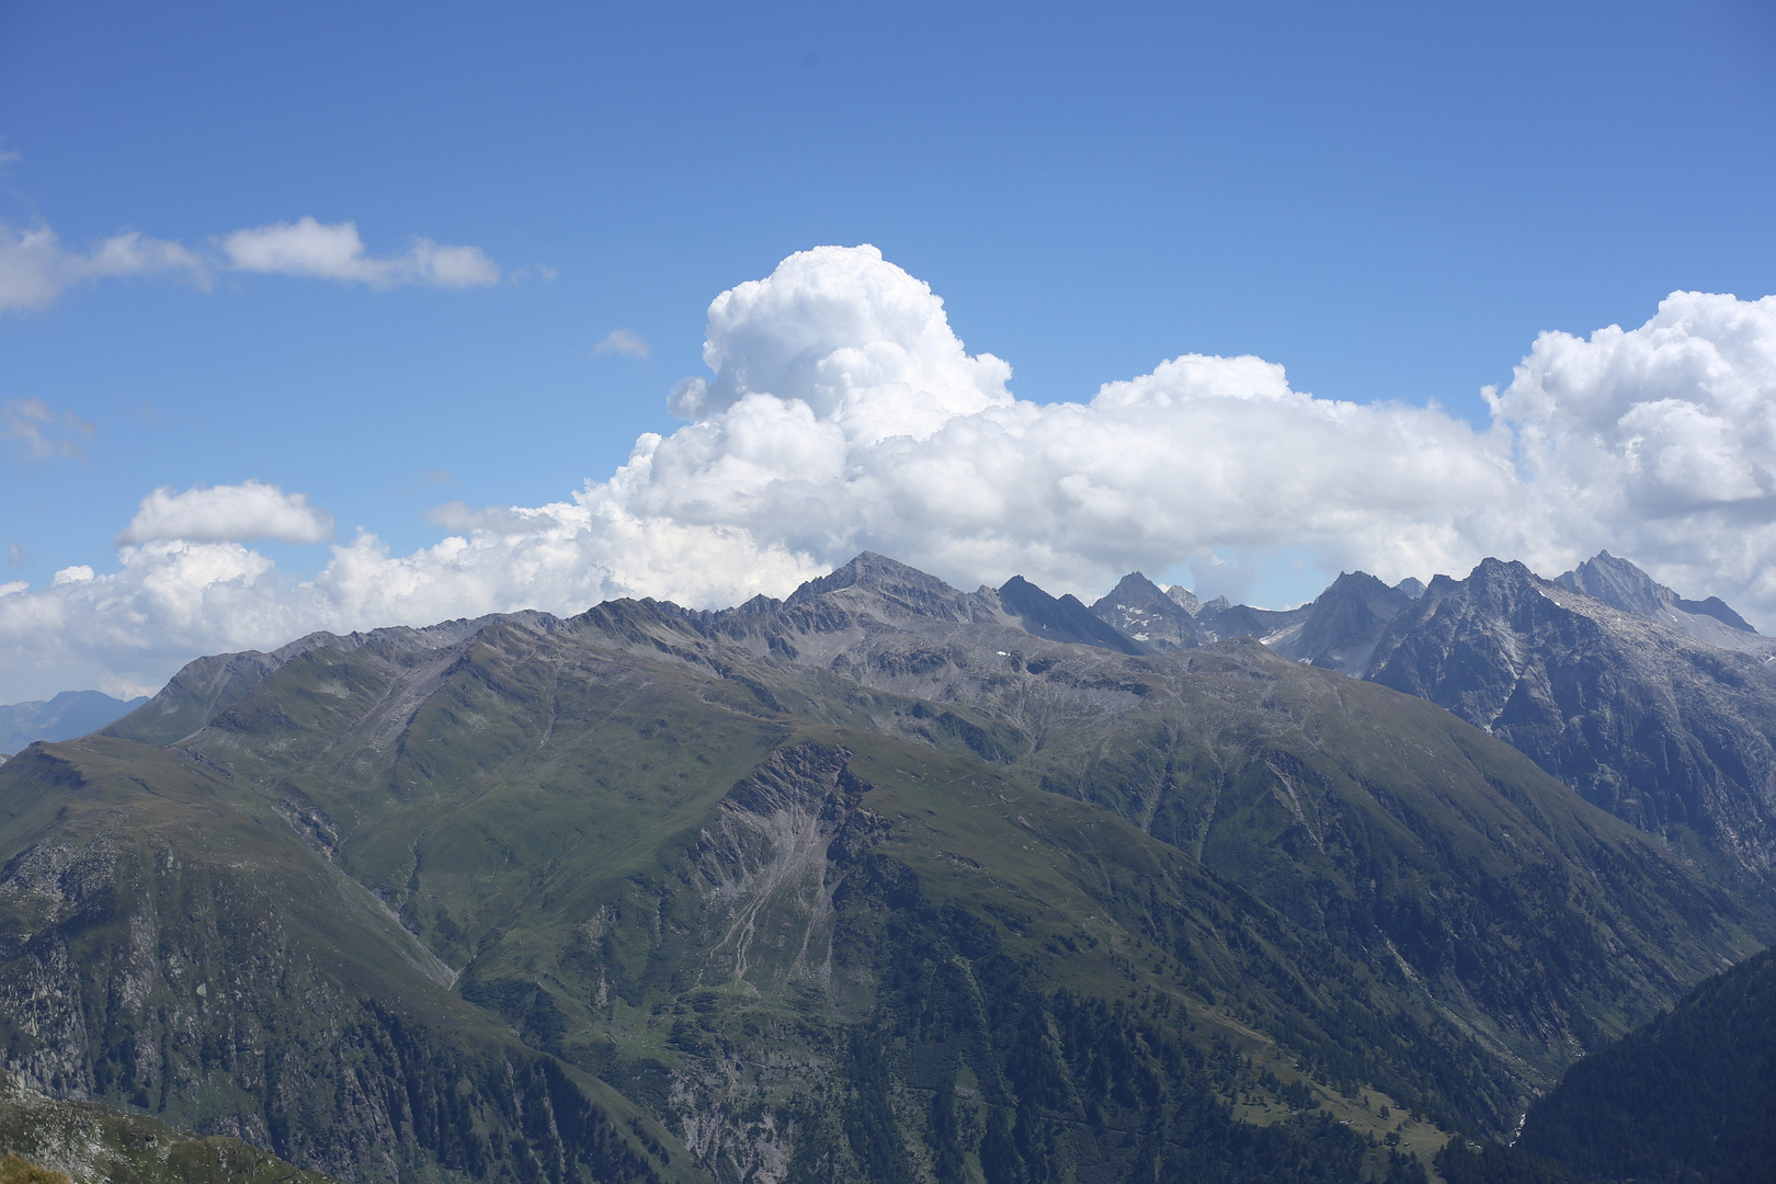
<svg viewBox="0 0 1776 1184">
<path fill-rule="evenodd" d="M 1776 864 L 1776 671 L 1749 653 L 1487 559 L 1433 579 L 1366 678 L 1485 728 L 1643 831 Z"/>
</svg>

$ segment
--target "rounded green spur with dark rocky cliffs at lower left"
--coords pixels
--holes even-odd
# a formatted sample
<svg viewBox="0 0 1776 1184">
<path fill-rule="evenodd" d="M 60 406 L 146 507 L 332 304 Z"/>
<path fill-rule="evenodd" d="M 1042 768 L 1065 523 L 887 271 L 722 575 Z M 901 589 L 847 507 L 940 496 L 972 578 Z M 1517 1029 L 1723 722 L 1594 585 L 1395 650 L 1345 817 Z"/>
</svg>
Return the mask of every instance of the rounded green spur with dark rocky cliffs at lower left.
<svg viewBox="0 0 1776 1184">
<path fill-rule="evenodd" d="M 627 1104 L 458 999 L 220 770 L 115 738 L 32 746 L 0 769 L 0 1033 L 37 1088 L 341 1179 L 671 1175 Z"/>
</svg>

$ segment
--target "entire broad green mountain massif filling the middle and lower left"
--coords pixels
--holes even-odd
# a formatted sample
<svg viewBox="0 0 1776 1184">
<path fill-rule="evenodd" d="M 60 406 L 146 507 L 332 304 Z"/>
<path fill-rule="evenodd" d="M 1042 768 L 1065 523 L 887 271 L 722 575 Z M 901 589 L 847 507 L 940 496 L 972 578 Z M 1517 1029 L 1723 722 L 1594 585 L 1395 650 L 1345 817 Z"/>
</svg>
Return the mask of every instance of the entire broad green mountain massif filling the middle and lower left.
<svg viewBox="0 0 1776 1184">
<path fill-rule="evenodd" d="M 1018 591 L 195 662 L 0 767 L 7 1065 L 343 1180 L 1414 1180 L 1771 932 L 1430 703 Z"/>
</svg>

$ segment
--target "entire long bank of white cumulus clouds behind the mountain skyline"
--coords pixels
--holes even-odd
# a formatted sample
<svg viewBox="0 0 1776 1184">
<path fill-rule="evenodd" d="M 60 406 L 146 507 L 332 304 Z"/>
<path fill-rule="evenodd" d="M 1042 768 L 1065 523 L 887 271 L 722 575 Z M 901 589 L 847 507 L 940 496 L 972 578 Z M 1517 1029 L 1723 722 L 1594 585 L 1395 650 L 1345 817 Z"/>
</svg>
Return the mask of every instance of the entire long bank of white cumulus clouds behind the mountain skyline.
<svg viewBox="0 0 1776 1184">
<path fill-rule="evenodd" d="M 652 595 L 781 595 L 874 549 L 957 584 L 1094 593 L 1229 549 L 1327 572 L 1556 572 L 1600 547 L 1776 623 L 1776 298 L 1677 293 L 1634 330 L 1542 335 L 1476 431 L 1437 407 L 1293 391 L 1256 357 L 1183 355 L 1089 401 L 1012 394 L 943 302 L 874 247 L 822 247 L 709 309 L 709 375 L 629 462 L 547 506 L 442 506 L 394 556 L 371 534 L 293 580 L 245 545 L 330 518 L 272 486 L 156 490 L 119 570 L 0 586 L 21 691 L 153 685 L 206 651 L 311 628 Z M 28 671 L 36 669 L 36 675 Z"/>
</svg>

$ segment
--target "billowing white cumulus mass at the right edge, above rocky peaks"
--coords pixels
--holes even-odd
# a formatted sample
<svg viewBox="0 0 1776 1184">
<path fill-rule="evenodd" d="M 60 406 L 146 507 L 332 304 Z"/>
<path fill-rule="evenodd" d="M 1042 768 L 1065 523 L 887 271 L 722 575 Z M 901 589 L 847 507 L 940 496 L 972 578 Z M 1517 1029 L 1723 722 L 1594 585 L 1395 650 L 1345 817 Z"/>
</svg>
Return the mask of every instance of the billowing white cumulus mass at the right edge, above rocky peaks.
<svg viewBox="0 0 1776 1184">
<path fill-rule="evenodd" d="M 1487 394 L 1550 556 L 1609 547 L 1776 625 L 1776 296 L 1677 291 L 1637 328 L 1542 334 Z"/>
</svg>

